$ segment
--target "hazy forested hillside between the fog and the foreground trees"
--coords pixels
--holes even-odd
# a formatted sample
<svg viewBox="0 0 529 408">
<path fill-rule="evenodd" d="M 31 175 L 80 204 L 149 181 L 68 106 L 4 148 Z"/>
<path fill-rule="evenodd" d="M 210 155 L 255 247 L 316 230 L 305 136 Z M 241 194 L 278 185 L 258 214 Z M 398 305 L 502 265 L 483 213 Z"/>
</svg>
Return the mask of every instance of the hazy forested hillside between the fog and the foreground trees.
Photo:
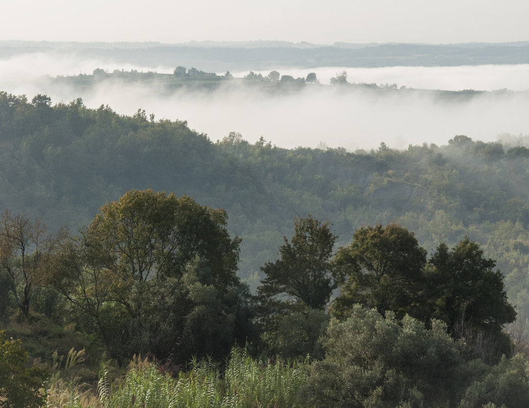
<svg viewBox="0 0 529 408">
<path fill-rule="evenodd" d="M 187 194 L 227 211 L 230 232 L 242 238 L 239 274 L 252 288 L 296 216 L 329 219 L 338 244 L 363 224 L 389 221 L 415 231 L 430 251 L 468 235 L 497 259 L 510 299 L 527 316 L 526 142 L 454 136 L 406 151 L 286 150 L 236 133 L 211 141 L 142 110 L 128 117 L 80 99 L 53 105 L 43 95 L 3 92 L 0 207 L 75 230 L 130 189 Z"/>
</svg>

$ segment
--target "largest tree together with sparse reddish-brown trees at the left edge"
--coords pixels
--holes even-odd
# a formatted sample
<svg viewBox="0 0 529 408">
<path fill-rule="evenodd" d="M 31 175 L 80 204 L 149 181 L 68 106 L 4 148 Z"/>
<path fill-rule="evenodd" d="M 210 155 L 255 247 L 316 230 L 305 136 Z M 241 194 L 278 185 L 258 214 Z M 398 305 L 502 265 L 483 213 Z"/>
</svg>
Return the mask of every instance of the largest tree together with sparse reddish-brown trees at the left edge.
<svg viewBox="0 0 529 408">
<path fill-rule="evenodd" d="M 2 299 L 95 333 L 115 357 L 224 357 L 249 335 L 250 292 L 236 276 L 240 239 L 226 212 L 187 196 L 132 190 L 78 235 L 5 212 Z M 33 302 L 40 287 L 39 303 Z M 42 294 L 44 293 L 44 294 Z M 35 304 L 37 303 L 37 304 Z M 51 305 L 50 305 L 51 303 Z"/>
</svg>

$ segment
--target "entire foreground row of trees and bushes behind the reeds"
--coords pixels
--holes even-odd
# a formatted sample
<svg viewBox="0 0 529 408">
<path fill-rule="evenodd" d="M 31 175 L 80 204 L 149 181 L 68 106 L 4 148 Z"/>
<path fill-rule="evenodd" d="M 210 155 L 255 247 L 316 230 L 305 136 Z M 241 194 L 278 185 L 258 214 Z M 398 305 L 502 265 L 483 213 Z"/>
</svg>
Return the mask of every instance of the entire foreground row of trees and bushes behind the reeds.
<svg viewBox="0 0 529 408">
<path fill-rule="evenodd" d="M 439 244 L 428 258 L 413 233 L 377 224 L 334 251 L 329 221 L 297 218 L 251 295 L 236 275 L 241 240 L 228 233 L 226 212 L 187 196 L 128 191 L 77 235 L 50 234 L 40 219 L 8 211 L 2 222 L 7 310 L 48 313 L 97 336 L 121 361 L 138 353 L 181 364 L 221 360 L 234 342 L 283 357 L 308 353 L 316 360 L 303 398 L 318 407 L 478 407 L 483 398 L 502 401 L 487 382 L 513 367 L 526 375 L 522 357 L 501 357 L 512 354 L 503 329 L 516 317 L 503 275 L 468 238 Z M 2 347 L 10 349 L 0 370 L 17 365 L 24 395 L 40 401 L 35 384 L 44 372 L 20 368 L 20 343 Z"/>
</svg>

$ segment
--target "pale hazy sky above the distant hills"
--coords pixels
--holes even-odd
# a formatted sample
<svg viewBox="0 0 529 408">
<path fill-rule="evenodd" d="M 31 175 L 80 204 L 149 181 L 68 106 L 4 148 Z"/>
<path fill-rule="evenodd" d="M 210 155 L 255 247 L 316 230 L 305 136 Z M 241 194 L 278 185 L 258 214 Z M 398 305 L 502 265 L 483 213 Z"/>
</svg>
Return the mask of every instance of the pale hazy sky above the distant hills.
<svg viewBox="0 0 529 408">
<path fill-rule="evenodd" d="M 0 40 L 529 41 L 527 0 L 2 0 Z"/>
</svg>

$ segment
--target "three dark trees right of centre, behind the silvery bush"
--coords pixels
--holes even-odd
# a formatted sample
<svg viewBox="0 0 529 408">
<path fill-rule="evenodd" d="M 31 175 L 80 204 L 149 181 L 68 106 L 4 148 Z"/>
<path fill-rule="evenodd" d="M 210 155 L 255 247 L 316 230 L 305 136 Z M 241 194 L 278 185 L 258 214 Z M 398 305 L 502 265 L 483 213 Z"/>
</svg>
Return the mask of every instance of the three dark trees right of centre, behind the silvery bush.
<svg viewBox="0 0 529 408">
<path fill-rule="evenodd" d="M 329 222 L 297 219 L 295 234 L 290 242 L 285 238 L 279 258 L 261 267 L 266 277 L 257 290 L 258 315 L 272 348 L 279 345 L 285 351 L 295 345 L 284 341 L 281 336 L 287 332 L 278 328 L 299 326 L 314 354 L 318 345 L 312 320 L 322 317 L 316 311 L 329 308 L 331 316 L 343 320 L 360 304 L 382 316 L 391 311 L 397 319 L 413 317 L 426 327 L 440 320 L 454 338 L 467 337 L 468 352 L 475 357 L 510 353 L 503 327 L 515 320 L 516 312 L 507 300 L 503 275 L 468 237 L 451 249 L 439 244 L 429 259 L 414 234 L 395 223 L 361 227 L 352 243 L 333 255 L 335 239 Z M 329 305 L 333 291 L 337 295 Z M 476 338 L 486 339 L 487 347 L 471 344 Z M 303 350 L 291 351 L 296 355 Z"/>
</svg>

